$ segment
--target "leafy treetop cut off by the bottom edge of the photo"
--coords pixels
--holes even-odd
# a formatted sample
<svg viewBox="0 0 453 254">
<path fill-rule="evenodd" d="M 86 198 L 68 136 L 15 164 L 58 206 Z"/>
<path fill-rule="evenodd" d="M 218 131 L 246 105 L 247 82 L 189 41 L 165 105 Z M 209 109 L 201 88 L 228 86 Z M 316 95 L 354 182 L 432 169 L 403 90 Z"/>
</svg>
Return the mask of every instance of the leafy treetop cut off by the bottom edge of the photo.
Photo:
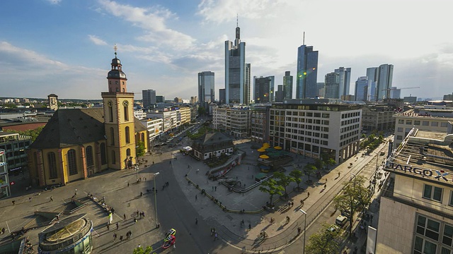
<svg viewBox="0 0 453 254">
<path fill-rule="evenodd" d="M 322 224 L 318 232 L 312 234 L 306 244 L 305 253 L 336 254 L 340 253 L 340 237 L 342 230 L 335 225 Z"/>
</svg>

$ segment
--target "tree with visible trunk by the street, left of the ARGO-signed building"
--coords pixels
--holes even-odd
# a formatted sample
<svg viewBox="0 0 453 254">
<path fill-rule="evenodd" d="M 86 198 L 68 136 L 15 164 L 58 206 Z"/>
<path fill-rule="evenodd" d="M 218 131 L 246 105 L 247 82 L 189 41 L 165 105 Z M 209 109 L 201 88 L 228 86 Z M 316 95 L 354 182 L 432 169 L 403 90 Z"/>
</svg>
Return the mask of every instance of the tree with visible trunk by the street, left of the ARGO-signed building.
<svg viewBox="0 0 453 254">
<path fill-rule="evenodd" d="M 340 194 L 333 198 L 333 204 L 340 211 L 349 210 L 349 234 L 352 234 L 352 219 L 356 211 L 365 210 L 371 201 L 371 191 L 365 187 L 363 176 L 354 176 L 350 181 L 343 183 Z"/>
</svg>

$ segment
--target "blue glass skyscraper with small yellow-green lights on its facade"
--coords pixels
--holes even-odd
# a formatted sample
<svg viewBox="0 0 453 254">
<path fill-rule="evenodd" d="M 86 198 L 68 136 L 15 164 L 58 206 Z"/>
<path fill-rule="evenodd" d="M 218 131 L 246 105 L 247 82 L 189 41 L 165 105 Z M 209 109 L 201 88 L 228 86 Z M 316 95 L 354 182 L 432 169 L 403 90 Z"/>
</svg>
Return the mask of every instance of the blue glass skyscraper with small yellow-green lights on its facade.
<svg viewBox="0 0 453 254">
<path fill-rule="evenodd" d="M 296 99 L 316 97 L 318 52 L 305 44 L 297 48 Z"/>
</svg>

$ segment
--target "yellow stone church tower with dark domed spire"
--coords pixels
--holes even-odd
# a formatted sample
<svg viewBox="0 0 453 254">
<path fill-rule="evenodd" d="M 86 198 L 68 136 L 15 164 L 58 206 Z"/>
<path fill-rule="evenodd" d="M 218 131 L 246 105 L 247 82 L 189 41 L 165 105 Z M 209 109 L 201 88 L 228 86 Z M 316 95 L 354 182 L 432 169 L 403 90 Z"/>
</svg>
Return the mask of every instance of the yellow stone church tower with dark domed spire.
<svg viewBox="0 0 453 254">
<path fill-rule="evenodd" d="M 108 72 L 108 92 L 102 92 L 104 108 L 105 145 L 108 167 L 127 169 L 135 164 L 134 93 L 127 92 L 126 74 L 120 59 L 112 59 Z"/>
</svg>

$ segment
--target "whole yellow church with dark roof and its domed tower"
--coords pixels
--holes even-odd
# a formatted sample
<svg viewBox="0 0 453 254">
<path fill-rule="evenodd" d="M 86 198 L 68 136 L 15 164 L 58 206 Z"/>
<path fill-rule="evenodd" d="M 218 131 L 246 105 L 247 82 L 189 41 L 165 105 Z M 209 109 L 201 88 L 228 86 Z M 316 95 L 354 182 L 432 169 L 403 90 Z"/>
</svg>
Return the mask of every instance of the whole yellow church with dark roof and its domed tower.
<svg viewBox="0 0 453 254">
<path fill-rule="evenodd" d="M 102 108 L 58 109 L 28 150 L 33 185 L 65 185 L 105 169 L 135 164 L 138 141 L 148 150 L 147 128 L 134 117 L 134 93 L 120 59 L 112 59 Z"/>
</svg>

